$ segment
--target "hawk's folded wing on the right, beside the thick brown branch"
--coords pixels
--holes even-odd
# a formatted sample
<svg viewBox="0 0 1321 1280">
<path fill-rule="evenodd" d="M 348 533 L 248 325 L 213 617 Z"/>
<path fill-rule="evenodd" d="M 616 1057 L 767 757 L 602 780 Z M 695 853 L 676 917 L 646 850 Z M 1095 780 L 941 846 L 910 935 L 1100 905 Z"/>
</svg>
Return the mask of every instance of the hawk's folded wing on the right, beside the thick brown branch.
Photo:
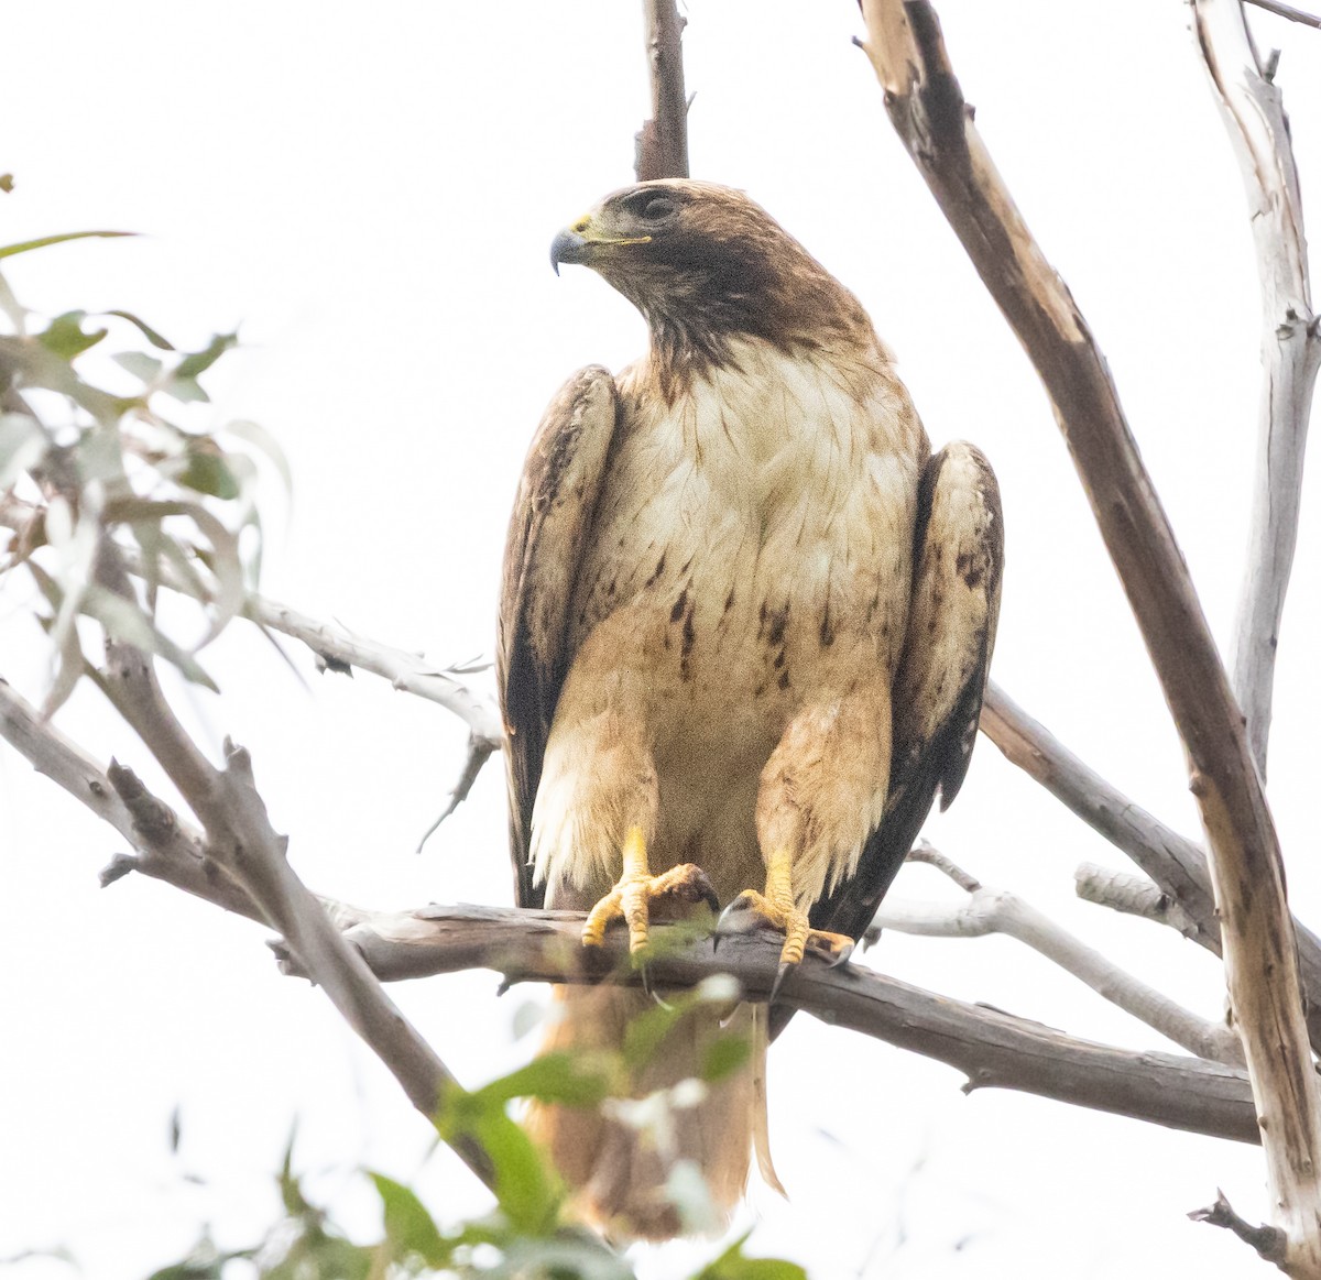
<svg viewBox="0 0 1321 1280">
<path fill-rule="evenodd" d="M 811 910 L 815 929 L 861 937 L 908 857 L 935 793 L 947 808 L 978 736 L 1000 613 L 1004 524 L 991 464 L 963 441 L 922 473 L 908 638 L 892 697 L 890 783 L 852 880 Z"/>
</svg>

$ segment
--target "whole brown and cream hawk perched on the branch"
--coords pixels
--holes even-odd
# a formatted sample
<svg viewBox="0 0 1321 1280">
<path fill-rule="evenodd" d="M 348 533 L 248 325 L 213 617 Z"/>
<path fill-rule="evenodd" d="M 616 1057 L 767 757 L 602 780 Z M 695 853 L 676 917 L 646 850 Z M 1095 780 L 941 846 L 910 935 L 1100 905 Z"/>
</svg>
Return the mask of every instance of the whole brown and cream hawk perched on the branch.
<svg viewBox="0 0 1321 1280">
<path fill-rule="evenodd" d="M 808 927 L 847 935 L 824 939 L 839 952 L 968 765 L 995 477 L 967 444 L 930 456 L 861 305 L 740 192 L 626 188 L 551 260 L 604 276 L 651 343 L 564 386 L 514 506 L 498 666 L 518 901 L 593 909 L 588 944 L 622 914 L 637 948 L 649 896 L 696 864 L 723 906 L 785 931 L 783 966 Z M 618 1044 L 646 1004 L 563 1000 L 556 1046 Z M 688 1017 L 635 1092 L 695 1075 L 717 1021 Z M 531 1123 L 584 1217 L 663 1238 L 674 1161 L 724 1209 L 741 1194 L 762 1069 L 709 1086 L 663 1151 L 589 1110 Z"/>
</svg>

